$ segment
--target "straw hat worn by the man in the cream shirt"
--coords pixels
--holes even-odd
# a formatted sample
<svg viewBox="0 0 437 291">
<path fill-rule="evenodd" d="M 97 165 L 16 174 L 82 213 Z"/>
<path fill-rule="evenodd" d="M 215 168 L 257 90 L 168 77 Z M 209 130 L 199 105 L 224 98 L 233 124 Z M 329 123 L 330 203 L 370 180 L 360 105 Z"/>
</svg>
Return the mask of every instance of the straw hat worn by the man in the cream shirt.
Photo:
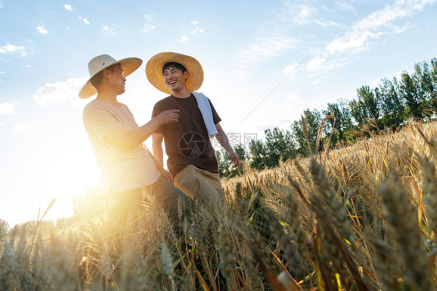
<svg viewBox="0 0 437 291">
<path fill-rule="evenodd" d="M 121 65 L 121 69 L 123 69 L 123 75 L 124 77 L 127 77 L 141 66 L 143 60 L 137 57 L 128 57 L 120 60 L 115 60 L 113 57 L 107 54 L 96 56 L 88 62 L 89 79 L 85 83 L 85 85 L 83 85 L 82 89 L 80 89 L 79 97 L 85 99 L 96 94 L 97 90 L 93 85 L 91 85 L 91 78 L 96 76 L 96 74 L 98 74 L 99 72 L 103 71 L 103 69 L 111 67 L 113 64 L 116 63 L 119 63 Z"/>
</svg>

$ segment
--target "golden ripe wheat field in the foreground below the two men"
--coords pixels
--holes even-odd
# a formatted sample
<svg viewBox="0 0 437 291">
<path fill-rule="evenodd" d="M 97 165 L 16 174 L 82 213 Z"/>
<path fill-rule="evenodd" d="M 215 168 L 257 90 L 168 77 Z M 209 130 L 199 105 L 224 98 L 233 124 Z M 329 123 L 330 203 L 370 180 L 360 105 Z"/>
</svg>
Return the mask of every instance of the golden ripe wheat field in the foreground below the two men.
<svg viewBox="0 0 437 291">
<path fill-rule="evenodd" d="M 437 124 L 244 165 L 213 204 L 16 225 L 2 290 L 434 290 Z M 189 215 L 182 213 L 188 211 Z"/>
</svg>

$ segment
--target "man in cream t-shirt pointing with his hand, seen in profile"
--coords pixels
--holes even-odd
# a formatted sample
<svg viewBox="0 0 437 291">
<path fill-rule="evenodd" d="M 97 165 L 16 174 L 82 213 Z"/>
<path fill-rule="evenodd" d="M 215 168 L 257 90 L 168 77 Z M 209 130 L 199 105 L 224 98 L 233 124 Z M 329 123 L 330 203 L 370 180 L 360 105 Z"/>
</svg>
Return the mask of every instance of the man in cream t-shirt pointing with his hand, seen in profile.
<svg viewBox="0 0 437 291">
<path fill-rule="evenodd" d="M 142 207 L 144 187 L 171 217 L 179 199 L 189 201 L 143 145 L 158 127 L 176 122 L 178 110 L 166 110 L 138 126 L 129 108 L 117 101 L 125 91 L 125 76 L 141 63 L 139 58 L 117 61 L 109 55 L 97 56 L 88 63 L 90 79 L 79 92 L 82 99 L 97 93 L 83 110 L 83 124 L 102 171 L 101 193 L 108 196 L 108 218 L 112 220 Z"/>
</svg>

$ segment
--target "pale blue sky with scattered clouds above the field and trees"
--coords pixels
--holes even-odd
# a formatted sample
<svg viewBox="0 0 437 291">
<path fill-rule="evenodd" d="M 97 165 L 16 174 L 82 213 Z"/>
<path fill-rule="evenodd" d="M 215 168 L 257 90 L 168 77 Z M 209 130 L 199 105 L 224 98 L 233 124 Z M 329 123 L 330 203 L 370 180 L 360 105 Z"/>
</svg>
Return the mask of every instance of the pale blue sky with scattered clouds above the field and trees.
<svg viewBox="0 0 437 291">
<path fill-rule="evenodd" d="M 147 60 L 197 58 L 199 91 L 244 142 L 437 57 L 435 2 L 0 0 L 0 218 L 36 219 L 52 198 L 47 218 L 70 216 L 72 197 L 99 184 L 81 115 L 90 100 L 77 96 L 94 56 L 143 59 L 119 96 L 140 125 L 165 97 Z"/>
</svg>

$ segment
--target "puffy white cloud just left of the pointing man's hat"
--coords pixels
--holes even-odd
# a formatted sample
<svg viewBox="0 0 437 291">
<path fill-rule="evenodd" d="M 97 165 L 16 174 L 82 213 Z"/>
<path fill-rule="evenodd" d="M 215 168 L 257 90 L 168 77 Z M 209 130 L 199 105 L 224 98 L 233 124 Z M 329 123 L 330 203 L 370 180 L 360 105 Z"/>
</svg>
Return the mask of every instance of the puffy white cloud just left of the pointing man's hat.
<svg viewBox="0 0 437 291">
<path fill-rule="evenodd" d="M 69 78 L 67 81 L 47 83 L 35 92 L 33 98 L 39 105 L 70 101 L 73 105 L 83 106 L 79 102 L 78 94 L 88 79 L 88 77 Z"/>
</svg>

